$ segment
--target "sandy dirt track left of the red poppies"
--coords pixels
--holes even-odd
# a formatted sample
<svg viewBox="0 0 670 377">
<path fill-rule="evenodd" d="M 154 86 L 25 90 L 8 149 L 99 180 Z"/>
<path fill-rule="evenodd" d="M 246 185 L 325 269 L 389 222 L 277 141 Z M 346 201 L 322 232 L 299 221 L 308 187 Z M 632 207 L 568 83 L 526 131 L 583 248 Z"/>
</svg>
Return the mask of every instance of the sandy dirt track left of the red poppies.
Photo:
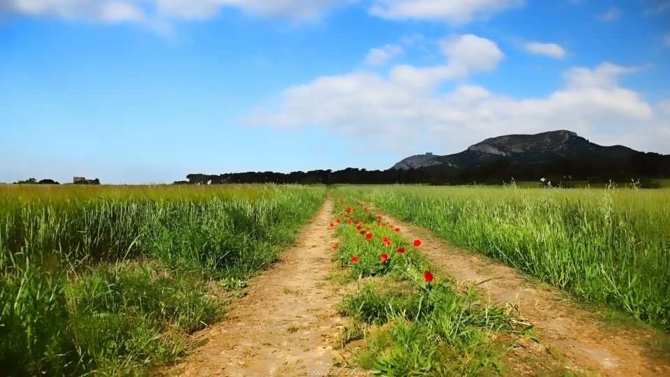
<svg viewBox="0 0 670 377">
<path fill-rule="evenodd" d="M 332 207 L 329 197 L 297 245 L 253 281 L 225 320 L 195 334 L 208 343 L 171 375 L 308 376 L 332 369 L 343 328 L 335 309 L 339 288 L 325 280 L 334 272 Z"/>
</svg>

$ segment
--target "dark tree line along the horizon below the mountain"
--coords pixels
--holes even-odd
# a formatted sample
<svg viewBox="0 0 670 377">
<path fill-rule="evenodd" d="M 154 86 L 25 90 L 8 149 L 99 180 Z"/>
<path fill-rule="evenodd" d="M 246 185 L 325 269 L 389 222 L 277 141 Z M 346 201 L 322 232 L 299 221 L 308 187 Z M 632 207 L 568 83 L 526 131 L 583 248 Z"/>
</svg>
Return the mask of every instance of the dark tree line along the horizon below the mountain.
<svg viewBox="0 0 670 377">
<path fill-rule="evenodd" d="M 542 163 L 512 163 L 500 158 L 486 165 L 464 168 L 442 167 L 366 170 L 311 170 L 308 172 L 238 172 L 221 175 L 189 174 L 187 181 L 174 184 L 502 184 L 516 181 L 538 181 L 544 178 L 555 184 L 572 181 L 625 183 L 632 179 L 670 177 L 670 155 L 639 152 L 629 158 L 588 159 L 558 158 Z"/>
</svg>

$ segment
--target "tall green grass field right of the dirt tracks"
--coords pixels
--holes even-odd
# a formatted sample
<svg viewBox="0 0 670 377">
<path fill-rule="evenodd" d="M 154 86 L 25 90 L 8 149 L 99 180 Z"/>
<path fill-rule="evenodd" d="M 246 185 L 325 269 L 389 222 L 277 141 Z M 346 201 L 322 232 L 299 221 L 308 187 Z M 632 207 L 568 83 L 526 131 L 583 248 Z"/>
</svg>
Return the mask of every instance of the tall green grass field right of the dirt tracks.
<svg viewBox="0 0 670 377">
<path fill-rule="evenodd" d="M 670 331 L 670 191 L 341 186 L 556 285 Z"/>
</svg>

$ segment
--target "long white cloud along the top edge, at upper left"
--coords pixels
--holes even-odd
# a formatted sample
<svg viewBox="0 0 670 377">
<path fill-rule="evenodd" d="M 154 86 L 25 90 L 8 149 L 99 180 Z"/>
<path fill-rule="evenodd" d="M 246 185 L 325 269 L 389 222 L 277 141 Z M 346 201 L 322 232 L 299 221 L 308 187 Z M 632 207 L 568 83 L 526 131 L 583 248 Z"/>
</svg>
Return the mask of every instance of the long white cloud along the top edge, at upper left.
<svg viewBox="0 0 670 377">
<path fill-rule="evenodd" d="M 214 17 L 221 8 L 230 6 L 262 17 L 315 20 L 330 8 L 357 1 L 359 0 L 2 0 L 0 12 L 94 22 L 143 22 L 150 17 L 174 20 L 206 19 Z"/>
</svg>

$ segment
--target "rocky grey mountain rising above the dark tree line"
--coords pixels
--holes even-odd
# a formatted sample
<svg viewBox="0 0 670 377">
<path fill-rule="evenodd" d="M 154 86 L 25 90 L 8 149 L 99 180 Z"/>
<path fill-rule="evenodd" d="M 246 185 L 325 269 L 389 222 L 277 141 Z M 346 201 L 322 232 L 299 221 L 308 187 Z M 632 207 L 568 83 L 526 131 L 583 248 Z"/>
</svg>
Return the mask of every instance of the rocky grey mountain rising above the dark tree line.
<svg viewBox="0 0 670 377">
<path fill-rule="evenodd" d="M 557 158 L 613 159 L 628 158 L 634 149 L 614 145 L 603 147 L 582 138 L 572 131 L 550 131 L 536 135 L 505 135 L 489 138 L 468 149 L 447 156 L 419 154 L 403 159 L 392 169 L 444 166 L 463 168 L 468 165 L 486 165 L 500 158 L 512 163 L 540 163 Z"/>
</svg>

